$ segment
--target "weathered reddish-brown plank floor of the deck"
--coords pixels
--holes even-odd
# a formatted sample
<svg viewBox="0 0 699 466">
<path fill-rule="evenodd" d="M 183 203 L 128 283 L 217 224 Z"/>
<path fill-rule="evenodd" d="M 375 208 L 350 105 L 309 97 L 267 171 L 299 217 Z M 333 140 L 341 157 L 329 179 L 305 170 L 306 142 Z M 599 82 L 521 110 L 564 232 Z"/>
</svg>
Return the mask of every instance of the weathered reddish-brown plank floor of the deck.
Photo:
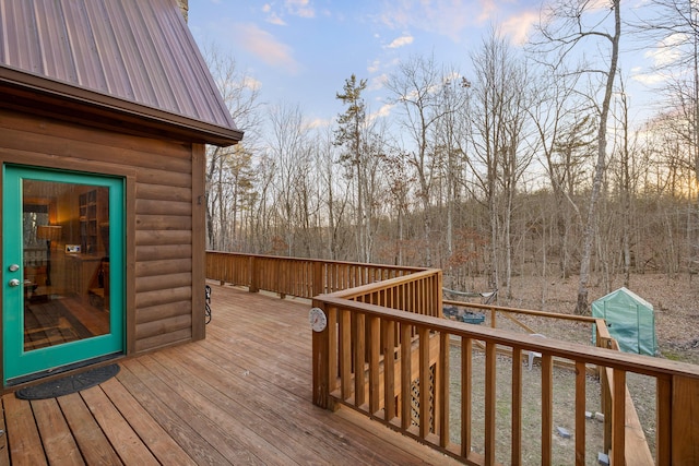
<svg viewBox="0 0 699 466">
<path fill-rule="evenodd" d="M 205 340 L 122 361 L 99 386 L 4 395 L 0 464 L 458 464 L 311 404 L 308 301 L 213 286 L 212 309 Z"/>
</svg>

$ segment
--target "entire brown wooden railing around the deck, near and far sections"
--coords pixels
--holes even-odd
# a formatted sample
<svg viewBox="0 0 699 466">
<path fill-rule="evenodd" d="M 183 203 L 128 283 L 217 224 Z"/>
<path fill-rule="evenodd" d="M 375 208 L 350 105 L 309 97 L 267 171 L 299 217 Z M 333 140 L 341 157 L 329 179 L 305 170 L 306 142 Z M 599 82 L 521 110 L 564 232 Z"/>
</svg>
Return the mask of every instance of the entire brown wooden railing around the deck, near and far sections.
<svg viewBox="0 0 699 466">
<path fill-rule="evenodd" d="M 222 261 L 232 264 L 247 261 L 248 266 L 253 264 L 254 268 L 246 272 L 240 266 L 236 276 L 228 272 L 235 267 L 224 265 Z M 524 442 L 534 435 L 541 439 L 537 454 L 541 464 L 549 465 L 554 461 L 555 441 L 553 362 L 554 359 L 566 360 L 576 369 L 570 413 L 574 449 L 566 463 L 583 465 L 590 453 L 585 435 L 585 372 L 588 367 L 596 366 L 606 378 L 602 380 L 603 393 L 606 393 L 603 406 L 605 432 L 608 430 L 604 447 L 611 453 L 613 465 L 643 464 L 637 463 L 641 461 L 638 455 L 629 453 L 635 439 L 631 438 L 633 428 L 628 428 L 631 414 L 627 407 L 627 373 L 655 380 L 655 463 L 699 464 L 699 425 L 692 415 L 699 405 L 697 366 L 442 319 L 440 271 L 346 263 L 337 263 L 335 267 L 334 263 L 324 261 L 298 261 L 241 254 L 223 259 L 220 253 L 215 256 L 209 253 L 208 277 L 281 295 L 309 297 L 318 289 L 325 290 L 312 298 L 312 306 L 323 310 L 328 320 L 325 328 L 312 336 L 312 397 L 316 405 L 329 409 L 336 404 L 351 406 L 471 465 L 493 465 L 503 459 L 522 464 Z M 272 272 L 262 267 L 282 275 L 274 278 Z M 298 267 L 305 275 L 300 275 Z M 337 270 L 343 272 L 328 272 Z M 292 277 L 289 273 L 296 275 Z M 380 280 L 378 277 L 383 273 L 394 276 Z M 333 275 L 342 278 L 333 282 L 329 278 Z M 312 286 L 308 282 L 304 286 L 297 285 L 305 280 Z M 335 291 L 342 284 L 356 284 L 357 287 Z M 494 311 L 493 307 L 488 309 L 500 312 Z M 602 328 L 597 344 L 613 345 L 604 334 L 603 322 L 597 327 Z M 475 401 L 472 375 L 474 369 L 478 369 L 474 365 L 473 350 L 477 344 L 483 345 L 485 355 L 484 399 L 478 401 L 485 418 L 483 432 L 478 432 L 484 438 L 481 453 L 476 453 L 472 441 L 476 432 L 472 420 Z M 507 348 L 511 354 L 509 362 L 502 362 L 502 358 L 498 362 L 500 348 Z M 532 403 L 522 397 L 521 359 L 528 351 L 541 355 L 541 398 L 534 401 L 541 404 L 537 422 L 541 430 L 537 432 L 523 431 L 522 427 L 524 404 Z M 458 357 L 452 358 L 454 355 Z M 498 368 L 503 363 L 509 365 L 506 380 L 497 377 Z M 503 386 L 511 393 L 511 413 L 506 423 L 498 415 L 500 406 L 496 396 Z M 454 391 L 455 397 L 452 397 Z M 461 401 L 458 413 L 450 408 L 450 401 L 454 398 Z M 496 449 L 496 438 L 501 432 L 509 439 L 507 458 L 502 458 Z"/>
</svg>

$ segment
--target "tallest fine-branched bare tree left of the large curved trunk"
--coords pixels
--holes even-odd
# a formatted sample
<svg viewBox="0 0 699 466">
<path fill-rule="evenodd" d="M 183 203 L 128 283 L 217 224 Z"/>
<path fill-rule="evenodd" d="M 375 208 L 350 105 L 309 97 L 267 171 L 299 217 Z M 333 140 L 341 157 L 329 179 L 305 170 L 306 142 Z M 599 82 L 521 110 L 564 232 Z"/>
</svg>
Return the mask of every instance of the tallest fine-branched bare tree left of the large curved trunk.
<svg viewBox="0 0 699 466">
<path fill-rule="evenodd" d="M 488 285 L 500 288 L 500 266 L 503 265 L 510 295 L 514 198 L 532 157 L 523 147 L 526 72 L 496 31 L 485 39 L 472 61 L 475 70 L 470 106 L 473 151 L 467 162 L 488 212 Z"/>
</svg>

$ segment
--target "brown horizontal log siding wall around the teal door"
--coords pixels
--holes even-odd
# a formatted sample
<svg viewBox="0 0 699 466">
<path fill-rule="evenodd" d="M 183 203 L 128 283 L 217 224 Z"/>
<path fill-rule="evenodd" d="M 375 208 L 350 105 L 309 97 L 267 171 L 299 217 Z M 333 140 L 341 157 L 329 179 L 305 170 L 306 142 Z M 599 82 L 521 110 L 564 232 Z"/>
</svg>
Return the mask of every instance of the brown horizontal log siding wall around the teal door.
<svg viewBox="0 0 699 466">
<path fill-rule="evenodd" d="M 203 145 L 0 109 L 0 162 L 126 177 L 126 353 L 204 337 Z"/>
</svg>

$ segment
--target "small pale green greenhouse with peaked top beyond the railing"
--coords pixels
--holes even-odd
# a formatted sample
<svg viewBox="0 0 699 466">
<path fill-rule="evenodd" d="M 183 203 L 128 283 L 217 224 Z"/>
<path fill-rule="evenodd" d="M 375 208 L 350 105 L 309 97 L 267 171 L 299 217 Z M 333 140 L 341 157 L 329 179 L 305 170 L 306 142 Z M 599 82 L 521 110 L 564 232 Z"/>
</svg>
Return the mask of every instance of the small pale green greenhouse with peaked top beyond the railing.
<svg viewBox="0 0 699 466">
<path fill-rule="evenodd" d="M 655 314 L 653 306 L 627 288 L 603 296 L 592 303 L 592 316 L 606 321 L 609 334 L 625 353 L 655 356 Z M 595 344 L 592 328 L 592 342 Z"/>
</svg>

